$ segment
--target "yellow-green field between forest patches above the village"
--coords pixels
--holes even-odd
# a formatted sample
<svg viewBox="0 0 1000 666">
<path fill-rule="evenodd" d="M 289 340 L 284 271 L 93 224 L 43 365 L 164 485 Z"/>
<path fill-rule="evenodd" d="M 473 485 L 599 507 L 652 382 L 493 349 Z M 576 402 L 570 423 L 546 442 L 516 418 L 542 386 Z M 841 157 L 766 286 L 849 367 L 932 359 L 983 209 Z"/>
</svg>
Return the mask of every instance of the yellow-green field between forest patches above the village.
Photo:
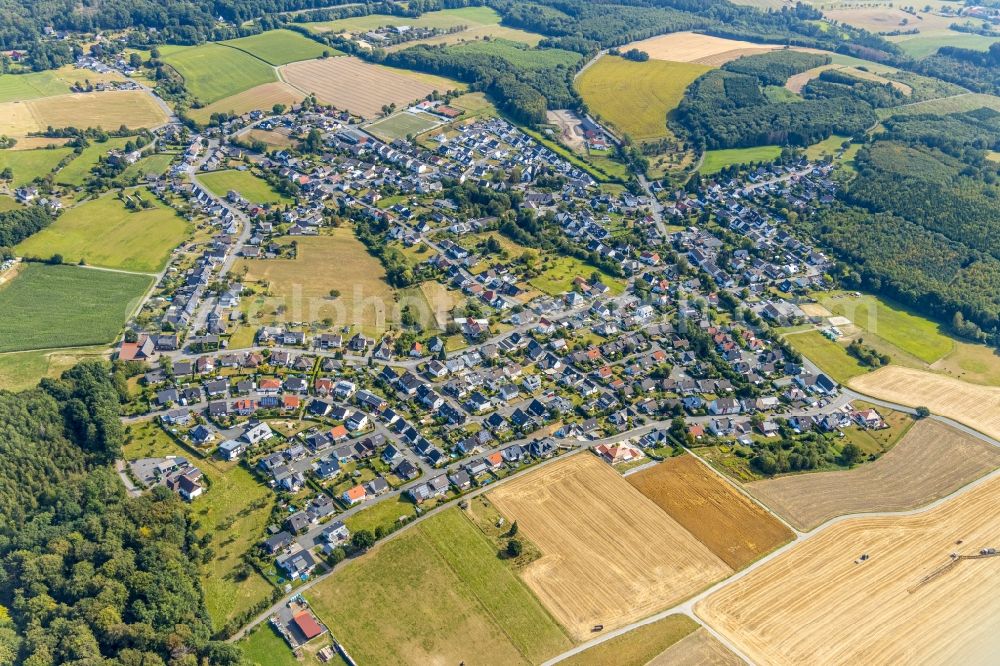
<svg viewBox="0 0 1000 666">
<path fill-rule="evenodd" d="M 641 142 L 668 136 L 667 114 L 680 104 L 691 82 L 710 69 L 604 56 L 580 75 L 576 87 L 592 112 Z"/>
</svg>

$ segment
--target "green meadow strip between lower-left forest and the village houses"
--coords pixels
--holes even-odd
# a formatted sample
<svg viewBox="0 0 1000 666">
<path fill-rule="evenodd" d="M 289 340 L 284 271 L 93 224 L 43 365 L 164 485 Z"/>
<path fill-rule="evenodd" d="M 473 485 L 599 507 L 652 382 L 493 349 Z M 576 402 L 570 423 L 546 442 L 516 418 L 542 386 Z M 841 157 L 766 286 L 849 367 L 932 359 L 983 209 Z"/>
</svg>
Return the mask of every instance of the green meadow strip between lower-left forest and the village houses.
<svg viewBox="0 0 1000 666">
<path fill-rule="evenodd" d="M 244 467 L 213 458 L 198 459 L 151 421 L 129 428 L 125 457 L 185 456 L 208 477 L 210 488 L 191 503 L 199 534 L 212 535 L 214 555 L 201 569 L 205 605 L 218 631 L 244 609 L 268 598 L 271 585 L 255 571 L 239 580 L 243 554 L 256 546 L 271 517 L 274 493 Z"/>
</svg>

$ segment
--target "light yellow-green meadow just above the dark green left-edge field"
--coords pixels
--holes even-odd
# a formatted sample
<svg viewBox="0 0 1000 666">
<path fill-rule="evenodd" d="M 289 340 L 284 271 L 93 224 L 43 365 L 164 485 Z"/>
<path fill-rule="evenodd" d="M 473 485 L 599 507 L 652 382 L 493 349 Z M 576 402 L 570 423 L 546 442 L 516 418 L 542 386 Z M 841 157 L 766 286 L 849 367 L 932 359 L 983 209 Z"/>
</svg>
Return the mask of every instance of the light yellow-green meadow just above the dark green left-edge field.
<svg viewBox="0 0 1000 666">
<path fill-rule="evenodd" d="M 63 255 L 84 263 L 141 273 L 156 273 L 191 231 L 190 224 L 149 190 L 138 192 L 151 208 L 131 211 L 108 194 L 63 212 L 59 218 L 17 246 L 25 257 Z"/>
</svg>

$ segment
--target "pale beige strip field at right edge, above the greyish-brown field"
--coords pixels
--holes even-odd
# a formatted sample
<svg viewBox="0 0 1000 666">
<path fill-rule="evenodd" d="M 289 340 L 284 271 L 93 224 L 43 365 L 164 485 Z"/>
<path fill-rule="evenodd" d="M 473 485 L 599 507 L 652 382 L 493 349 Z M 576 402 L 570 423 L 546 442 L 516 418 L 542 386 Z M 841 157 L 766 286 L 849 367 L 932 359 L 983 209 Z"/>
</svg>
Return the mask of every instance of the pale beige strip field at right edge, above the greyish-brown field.
<svg viewBox="0 0 1000 666">
<path fill-rule="evenodd" d="M 924 406 L 994 439 L 1000 439 L 1000 388 L 968 384 L 923 370 L 890 365 L 848 385 L 881 400 Z"/>
</svg>

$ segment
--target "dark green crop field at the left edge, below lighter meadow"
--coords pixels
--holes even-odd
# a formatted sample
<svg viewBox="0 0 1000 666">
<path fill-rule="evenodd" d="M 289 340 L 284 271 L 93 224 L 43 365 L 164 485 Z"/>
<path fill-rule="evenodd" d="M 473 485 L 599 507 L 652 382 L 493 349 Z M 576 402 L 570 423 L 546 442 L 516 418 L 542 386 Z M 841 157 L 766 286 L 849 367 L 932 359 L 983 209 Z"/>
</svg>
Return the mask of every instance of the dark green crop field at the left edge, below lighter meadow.
<svg viewBox="0 0 1000 666">
<path fill-rule="evenodd" d="M 151 283 L 148 275 L 29 264 L 0 289 L 0 352 L 111 343 Z"/>
</svg>

